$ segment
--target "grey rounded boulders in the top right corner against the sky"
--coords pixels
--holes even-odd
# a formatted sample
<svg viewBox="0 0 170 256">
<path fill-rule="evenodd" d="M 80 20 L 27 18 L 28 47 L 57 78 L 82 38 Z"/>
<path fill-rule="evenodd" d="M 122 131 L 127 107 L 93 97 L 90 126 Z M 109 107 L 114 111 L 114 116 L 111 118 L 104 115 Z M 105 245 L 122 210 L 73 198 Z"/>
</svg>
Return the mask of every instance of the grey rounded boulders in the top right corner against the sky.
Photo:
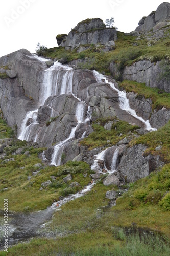
<svg viewBox="0 0 170 256">
<path fill-rule="evenodd" d="M 156 31 L 170 22 L 170 3 L 163 2 L 156 11 L 153 11 L 148 17 L 143 17 L 139 23 L 136 31 L 141 34 L 149 32 L 151 29 Z"/>
</svg>

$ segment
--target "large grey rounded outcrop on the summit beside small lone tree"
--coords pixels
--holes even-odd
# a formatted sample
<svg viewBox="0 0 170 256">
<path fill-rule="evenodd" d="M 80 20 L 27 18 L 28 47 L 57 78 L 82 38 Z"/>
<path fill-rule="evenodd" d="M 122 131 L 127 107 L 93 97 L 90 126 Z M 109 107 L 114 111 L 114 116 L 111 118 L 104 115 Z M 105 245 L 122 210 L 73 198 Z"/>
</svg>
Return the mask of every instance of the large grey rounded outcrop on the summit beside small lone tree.
<svg viewBox="0 0 170 256">
<path fill-rule="evenodd" d="M 72 49 L 85 44 L 97 44 L 98 42 L 105 44 L 109 41 L 115 41 L 117 33 L 114 28 L 106 28 L 102 19 L 93 18 L 78 23 L 64 39 L 59 40 L 60 37 L 60 35 L 56 37 L 59 46 Z"/>
</svg>

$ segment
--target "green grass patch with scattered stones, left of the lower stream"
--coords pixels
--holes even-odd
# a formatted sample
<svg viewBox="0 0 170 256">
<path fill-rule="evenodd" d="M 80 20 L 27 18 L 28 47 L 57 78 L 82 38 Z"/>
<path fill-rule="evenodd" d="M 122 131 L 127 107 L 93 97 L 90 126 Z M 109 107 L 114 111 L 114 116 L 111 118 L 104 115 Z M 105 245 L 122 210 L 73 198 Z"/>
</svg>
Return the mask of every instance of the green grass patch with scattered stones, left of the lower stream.
<svg viewBox="0 0 170 256">
<path fill-rule="evenodd" d="M 14 148 L 16 150 L 17 147 Z M 14 152 L 14 148 L 10 153 Z M 29 156 L 23 154 L 26 150 L 29 150 Z M 59 196 L 76 193 L 91 181 L 89 175 L 86 178 L 83 176 L 84 173 L 91 173 L 89 165 L 84 162 L 68 162 L 60 167 L 35 167 L 36 163 L 41 162 L 38 153 L 42 151 L 43 148 L 25 148 L 21 155 L 6 157 L 14 158 L 14 161 L 0 160 L 0 209 L 3 209 L 3 198 L 6 197 L 9 198 L 10 211 L 42 210 L 50 206 L 54 200 L 57 201 Z M 36 170 L 39 170 L 39 173 L 33 176 L 32 173 Z M 72 180 L 68 184 L 62 180 L 67 174 L 72 175 Z M 57 179 L 52 180 L 50 176 L 56 176 Z M 40 191 L 41 184 L 47 180 L 51 180 L 52 184 Z M 79 182 L 80 187 L 69 188 L 69 184 L 74 181 Z M 4 190 L 7 187 L 8 189 Z"/>
</svg>

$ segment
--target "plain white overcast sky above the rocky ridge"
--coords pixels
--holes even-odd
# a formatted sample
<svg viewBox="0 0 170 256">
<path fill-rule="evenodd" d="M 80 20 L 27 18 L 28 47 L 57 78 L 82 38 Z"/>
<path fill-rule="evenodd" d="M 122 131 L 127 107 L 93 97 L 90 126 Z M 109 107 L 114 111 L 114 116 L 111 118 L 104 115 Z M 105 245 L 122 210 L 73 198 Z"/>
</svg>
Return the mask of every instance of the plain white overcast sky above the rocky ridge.
<svg viewBox="0 0 170 256">
<path fill-rule="evenodd" d="M 114 18 L 118 31 L 131 32 L 162 0 L 6 0 L 1 1 L 0 57 L 25 48 L 36 51 L 38 42 L 56 47 L 56 36 L 68 34 L 87 18 Z"/>
</svg>

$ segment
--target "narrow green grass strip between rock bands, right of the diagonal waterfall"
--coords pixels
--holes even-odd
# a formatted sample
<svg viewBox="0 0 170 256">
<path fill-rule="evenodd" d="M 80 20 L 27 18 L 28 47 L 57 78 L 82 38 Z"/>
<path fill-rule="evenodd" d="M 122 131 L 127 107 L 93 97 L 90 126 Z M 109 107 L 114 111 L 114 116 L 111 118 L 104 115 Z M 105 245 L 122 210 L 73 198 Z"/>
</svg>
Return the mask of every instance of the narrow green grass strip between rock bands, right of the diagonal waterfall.
<svg viewBox="0 0 170 256">
<path fill-rule="evenodd" d="M 145 83 L 125 80 L 119 83 L 120 88 L 126 92 L 137 93 L 137 97 L 150 98 L 152 100 L 152 110 L 162 108 L 170 109 L 170 95 L 158 88 L 150 88 Z"/>
</svg>

